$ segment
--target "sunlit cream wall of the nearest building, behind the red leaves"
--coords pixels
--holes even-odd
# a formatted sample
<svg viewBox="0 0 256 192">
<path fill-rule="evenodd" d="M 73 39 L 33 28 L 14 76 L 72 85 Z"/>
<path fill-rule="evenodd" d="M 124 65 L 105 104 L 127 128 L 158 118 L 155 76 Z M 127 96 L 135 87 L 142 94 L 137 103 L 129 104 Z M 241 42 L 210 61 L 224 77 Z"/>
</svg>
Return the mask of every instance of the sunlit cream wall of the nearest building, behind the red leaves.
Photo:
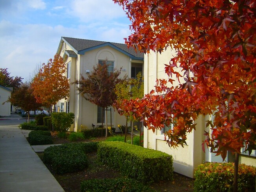
<svg viewBox="0 0 256 192">
<path fill-rule="evenodd" d="M 169 64 L 170 59 L 175 56 L 175 52 L 168 48 L 165 52 L 146 54 L 144 57 L 144 92 L 147 94 L 150 90 L 154 89 L 156 79 L 167 79 L 165 73 L 165 65 Z M 176 69 L 177 71 L 180 68 Z M 175 78 L 175 76 L 173 77 Z M 180 79 L 182 81 L 182 79 Z M 178 81 L 174 82 L 174 87 L 178 86 Z M 171 84 L 170 84 L 171 85 Z M 205 126 L 205 117 L 200 116 L 197 123 L 197 131 L 192 131 L 187 135 L 187 145 L 182 148 L 169 148 L 161 131 L 157 130 L 153 133 L 144 127 L 144 147 L 160 150 L 173 156 L 174 171 L 188 177 L 194 177 L 195 169 L 203 162 L 204 153 L 202 151 L 202 140 Z"/>
</svg>

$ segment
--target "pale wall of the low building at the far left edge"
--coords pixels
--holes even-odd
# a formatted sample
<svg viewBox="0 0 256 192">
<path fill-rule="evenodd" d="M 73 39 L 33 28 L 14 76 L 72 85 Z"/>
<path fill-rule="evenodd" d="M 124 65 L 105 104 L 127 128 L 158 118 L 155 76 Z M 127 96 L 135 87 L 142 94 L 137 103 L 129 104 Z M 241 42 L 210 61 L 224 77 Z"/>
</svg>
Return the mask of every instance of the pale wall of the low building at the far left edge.
<svg viewBox="0 0 256 192">
<path fill-rule="evenodd" d="M 6 102 L 11 91 L 0 87 L 0 116 L 11 116 L 11 103 Z M 4 105 L 2 103 L 6 102 Z"/>
</svg>

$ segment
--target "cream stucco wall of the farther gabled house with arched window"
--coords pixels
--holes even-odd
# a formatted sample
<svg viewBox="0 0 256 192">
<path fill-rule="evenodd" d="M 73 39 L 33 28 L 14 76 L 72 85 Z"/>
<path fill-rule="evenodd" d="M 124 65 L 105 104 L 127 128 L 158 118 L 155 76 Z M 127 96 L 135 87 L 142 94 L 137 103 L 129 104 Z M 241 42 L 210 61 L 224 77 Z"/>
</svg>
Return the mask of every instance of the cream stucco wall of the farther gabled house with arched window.
<svg viewBox="0 0 256 192">
<path fill-rule="evenodd" d="M 67 50 L 72 50 L 67 45 Z M 61 51 L 61 56 L 63 56 L 65 50 Z M 93 71 L 93 66 L 98 63 L 98 60 L 105 60 L 114 61 L 114 68 L 121 68 L 121 75 L 123 77 L 127 74 L 129 77 L 131 75 L 131 64 L 133 63 L 140 63 L 143 65 L 143 61 L 134 61 L 130 59 L 127 55 L 111 48 L 110 46 L 105 46 L 102 48 L 97 48 L 95 50 L 91 50 L 85 52 L 84 55 L 78 55 L 77 58 L 67 57 L 64 61 L 68 63 L 71 61 L 71 74 L 70 74 L 70 112 L 75 114 L 74 124 L 70 128 L 70 131 L 77 131 L 81 128 L 81 125 L 87 128 L 91 128 L 92 124 L 96 126 L 100 126 L 101 124 L 97 123 L 97 106 L 86 101 L 82 96 L 80 96 L 75 88 L 75 85 L 72 84 L 76 79 L 80 79 L 80 74 L 85 78 L 91 74 Z M 89 73 L 86 71 L 89 70 Z M 66 100 L 60 100 L 60 102 L 65 102 Z M 125 125 L 125 118 L 124 116 L 120 116 L 116 111 L 113 113 L 113 122 L 112 127 L 117 128 L 118 124 Z M 110 122 L 108 122 L 108 126 L 110 126 Z M 116 131 L 120 131 L 118 128 Z"/>
</svg>

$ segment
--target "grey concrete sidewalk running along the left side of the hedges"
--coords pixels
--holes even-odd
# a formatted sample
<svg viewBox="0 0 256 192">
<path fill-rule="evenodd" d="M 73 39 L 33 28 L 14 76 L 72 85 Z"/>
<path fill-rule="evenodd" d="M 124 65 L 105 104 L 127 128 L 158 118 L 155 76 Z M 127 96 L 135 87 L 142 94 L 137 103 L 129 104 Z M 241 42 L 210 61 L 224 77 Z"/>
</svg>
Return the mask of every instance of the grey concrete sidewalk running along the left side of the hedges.
<svg viewBox="0 0 256 192">
<path fill-rule="evenodd" d="M 18 126 L 0 126 L 0 192 L 65 192 Z"/>
</svg>

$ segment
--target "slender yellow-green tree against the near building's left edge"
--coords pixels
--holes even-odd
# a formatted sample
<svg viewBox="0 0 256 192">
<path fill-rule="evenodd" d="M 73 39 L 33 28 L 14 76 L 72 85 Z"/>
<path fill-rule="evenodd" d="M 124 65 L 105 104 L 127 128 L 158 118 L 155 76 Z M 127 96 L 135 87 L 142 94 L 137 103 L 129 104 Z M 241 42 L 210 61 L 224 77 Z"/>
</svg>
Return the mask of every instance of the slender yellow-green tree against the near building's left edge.
<svg viewBox="0 0 256 192">
<path fill-rule="evenodd" d="M 144 83 L 142 73 L 137 74 L 137 78 L 131 78 L 122 83 L 118 83 L 115 87 L 115 93 L 117 94 L 117 100 L 115 101 L 114 107 L 117 109 L 120 115 L 126 117 L 126 127 L 124 133 L 124 142 L 126 142 L 127 135 L 127 122 L 135 120 L 140 120 L 138 118 L 134 119 L 134 116 L 131 113 L 130 108 L 130 99 L 143 98 L 144 96 Z M 128 108 L 127 108 L 128 107 Z M 126 110 L 126 108 L 128 110 Z M 141 127 L 139 127 L 140 142 L 141 145 Z M 132 142 L 133 142 L 133 126 L 132 126 Z"/>
</svg>

